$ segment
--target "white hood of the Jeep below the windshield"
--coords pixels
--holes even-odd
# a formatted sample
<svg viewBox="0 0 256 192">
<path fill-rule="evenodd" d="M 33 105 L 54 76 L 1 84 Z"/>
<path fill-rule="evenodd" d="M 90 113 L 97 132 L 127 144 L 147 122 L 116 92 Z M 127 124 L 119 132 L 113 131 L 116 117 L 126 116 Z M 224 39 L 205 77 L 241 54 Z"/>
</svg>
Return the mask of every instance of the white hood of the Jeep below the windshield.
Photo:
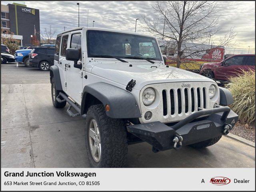
<svg viewBox="0 0 256 192">
<path fill-rule="evenodd" d="M 91 73 L 125 86 L 130 80 L 136 80 L 134 88 L 137 90 L 141 90 L 148 84 L 155 83 L 191 81 L 214 82 L 214 80 L 193 72 L 171 66 L 167 68 L 165 65 L 151 64 L 149 62 L 102 62 L 95 64 L 92 67 Z"/>
</svg>

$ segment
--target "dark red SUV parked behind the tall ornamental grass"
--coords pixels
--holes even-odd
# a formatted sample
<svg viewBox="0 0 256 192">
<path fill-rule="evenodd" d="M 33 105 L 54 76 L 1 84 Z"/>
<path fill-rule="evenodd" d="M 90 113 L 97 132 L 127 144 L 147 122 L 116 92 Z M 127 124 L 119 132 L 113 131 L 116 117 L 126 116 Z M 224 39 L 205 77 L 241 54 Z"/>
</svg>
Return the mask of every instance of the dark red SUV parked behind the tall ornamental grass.
<svg viewBox="0 0 256 192">
<path fill-rule="evenodd" d="M 220 82 L 228 81 L 230 76 L 237 76 L 242 70 L 255 70 L 255 55 L 233 55 L 219 63 L 205 63 L 200 74 Z"/>
</svg>

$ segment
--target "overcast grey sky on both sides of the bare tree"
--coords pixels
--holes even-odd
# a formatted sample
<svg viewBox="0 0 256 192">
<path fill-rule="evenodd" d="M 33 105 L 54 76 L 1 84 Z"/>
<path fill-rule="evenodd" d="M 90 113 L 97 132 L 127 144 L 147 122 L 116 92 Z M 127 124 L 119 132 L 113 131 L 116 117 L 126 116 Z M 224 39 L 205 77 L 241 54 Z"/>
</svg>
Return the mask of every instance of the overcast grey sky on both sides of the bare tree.
<svg viewBox="0 0 256 192">
<path fill-rule="evenodd" d="M 79 2 L 79 1 L 77 1 Z M 40 10 L 40 28 L 57 29 L 57 33 L 78 26 L 78 6 L 76 1 L 26 1 L 30 8 Z M 1 4 L 12 3 L 12 1 L 2 1 Z M 141 15 L 154 16 L 152 5 L 153 1 L 80 1 L 80 26 L 87 26 L 87 10 L 89 10 L 88 26 L 111 28 L 118 30 L 134 31 L 136 18 Z M 226 53 L 241 54 L 255 53 L 255 2 L 251 1 L 220 1 L 220 32 L 216 38 L 223 36 L 231 27 L 237 32 L 236 46 L 226 48 Z M 142 19 L 137 21 L 137 32 L 146 33 L 143 30 L 144 22 Z M 214 41 L 214 40 L 213 40 Z"/>
</svg>

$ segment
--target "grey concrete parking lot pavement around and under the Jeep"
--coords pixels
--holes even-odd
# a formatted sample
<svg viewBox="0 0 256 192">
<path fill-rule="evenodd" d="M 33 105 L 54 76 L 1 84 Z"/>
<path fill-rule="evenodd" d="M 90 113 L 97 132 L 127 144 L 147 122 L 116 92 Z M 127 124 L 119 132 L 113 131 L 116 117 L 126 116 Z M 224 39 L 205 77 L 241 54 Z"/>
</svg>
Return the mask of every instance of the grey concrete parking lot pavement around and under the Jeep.
<svg viewBox="0 0 256 192">
<path fill-rule="evenodd" d="M 49 72 L 1 65 L 1 167 L 90 167 L 84 120 L 52 105 Z M 147 143 L 128 146 L 127 167 L 254 168 L 255 148 L 223 136 L 208 148 L 154 153 Z"/>
</svg>

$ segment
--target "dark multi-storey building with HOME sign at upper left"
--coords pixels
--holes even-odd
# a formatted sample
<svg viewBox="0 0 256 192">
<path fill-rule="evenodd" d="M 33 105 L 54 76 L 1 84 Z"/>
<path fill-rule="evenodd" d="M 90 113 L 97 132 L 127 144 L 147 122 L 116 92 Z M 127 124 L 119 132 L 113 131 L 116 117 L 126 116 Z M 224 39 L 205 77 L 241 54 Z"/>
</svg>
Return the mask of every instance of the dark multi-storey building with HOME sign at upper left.
<svg viewBox="0 0 256 192">
<path fill-rule="evenodd" d="M 24 2 L 1 4 L 1 33 L 8 37 L 12 32 L 13 38 L 20 45 L 31 45 L 31 35 L 36 35 L 40 42 L 40 16 L 39 10 L 29 8 Z"/>
</svg>

